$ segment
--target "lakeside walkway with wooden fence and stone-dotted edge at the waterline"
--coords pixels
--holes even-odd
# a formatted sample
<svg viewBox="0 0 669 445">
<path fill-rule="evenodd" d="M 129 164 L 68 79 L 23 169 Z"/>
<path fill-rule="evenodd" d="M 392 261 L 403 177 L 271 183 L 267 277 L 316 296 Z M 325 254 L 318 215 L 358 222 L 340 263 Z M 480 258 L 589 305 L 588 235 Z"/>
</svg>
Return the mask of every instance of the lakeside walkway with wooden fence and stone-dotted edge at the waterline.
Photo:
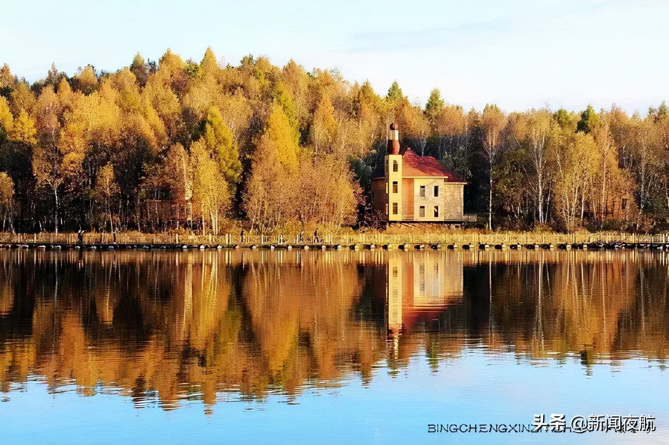
<svg viewBox="0 0 669 445">
<path fill-rule="evenodd" d="M 0 248 L 651 248 L 669 250 L 669 234 L 323 234 L 313 236 L 223 234 L 116 234 L 87 233 L 80 242 L 76 233 L 0 234 Z"/>
</svg>

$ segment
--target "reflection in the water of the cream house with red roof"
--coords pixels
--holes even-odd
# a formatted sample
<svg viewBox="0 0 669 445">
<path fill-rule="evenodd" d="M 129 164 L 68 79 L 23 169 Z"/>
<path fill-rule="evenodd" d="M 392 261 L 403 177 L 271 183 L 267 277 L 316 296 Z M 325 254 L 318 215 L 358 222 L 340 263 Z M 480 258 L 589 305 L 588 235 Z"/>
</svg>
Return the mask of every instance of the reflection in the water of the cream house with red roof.
<svg viewBox="0 0 669 445">
<path fill-rule="evenodd" d="M 388 252 L 388 329 L 431 321 L 462 297 L 460 252 Z"/>
</svg>

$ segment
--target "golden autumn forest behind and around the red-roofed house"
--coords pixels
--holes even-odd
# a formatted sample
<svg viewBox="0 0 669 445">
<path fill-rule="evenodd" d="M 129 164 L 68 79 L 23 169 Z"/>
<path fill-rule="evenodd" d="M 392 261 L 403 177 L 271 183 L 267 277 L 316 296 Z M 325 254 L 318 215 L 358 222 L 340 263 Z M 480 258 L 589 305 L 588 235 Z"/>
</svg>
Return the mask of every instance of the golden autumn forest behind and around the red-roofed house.
<svg viewBox="0 0 669 445">
<path fill-rule="evenodd" d="M 0 68 L 3 231 L 260 232 L 375 226 L 371 172 L 387 128 L 464 178 L 479 225 L 666 230 L 669 110 L 425 106 L 337 70 L 167 50 L 117 72 L 56 66 L 29 84 Z"/>
</svg>

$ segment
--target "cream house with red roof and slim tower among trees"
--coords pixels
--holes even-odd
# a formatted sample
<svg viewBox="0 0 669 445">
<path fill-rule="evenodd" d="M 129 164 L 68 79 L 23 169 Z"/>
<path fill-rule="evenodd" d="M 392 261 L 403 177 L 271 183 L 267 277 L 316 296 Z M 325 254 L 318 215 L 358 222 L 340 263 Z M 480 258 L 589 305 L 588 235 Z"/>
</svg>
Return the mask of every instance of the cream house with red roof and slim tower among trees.
<svg viewBox="0 0 669 445">
<path fill-rule="evenodd" d="M 460 226 L 464 221 L 465 181 L 434 157 L 399 147 L 399 131 L 390 124 L 385 162 L 371 176 L 372 209 L 393 221 Z"/>
</svg>

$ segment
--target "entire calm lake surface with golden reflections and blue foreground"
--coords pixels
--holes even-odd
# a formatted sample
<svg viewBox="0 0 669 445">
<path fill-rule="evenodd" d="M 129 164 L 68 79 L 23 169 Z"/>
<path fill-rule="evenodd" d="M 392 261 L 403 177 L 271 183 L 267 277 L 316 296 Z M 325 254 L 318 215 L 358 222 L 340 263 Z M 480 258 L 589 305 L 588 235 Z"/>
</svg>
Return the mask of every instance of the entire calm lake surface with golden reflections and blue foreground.
<svg viewBox="0 0 669 445">
<path fill-rule="evenodd" d="M 1 443 L 669 442 L 664 252 L 0 251 Z M 651 434 L 429 433 L 535 414 Z"/>
</svg>

